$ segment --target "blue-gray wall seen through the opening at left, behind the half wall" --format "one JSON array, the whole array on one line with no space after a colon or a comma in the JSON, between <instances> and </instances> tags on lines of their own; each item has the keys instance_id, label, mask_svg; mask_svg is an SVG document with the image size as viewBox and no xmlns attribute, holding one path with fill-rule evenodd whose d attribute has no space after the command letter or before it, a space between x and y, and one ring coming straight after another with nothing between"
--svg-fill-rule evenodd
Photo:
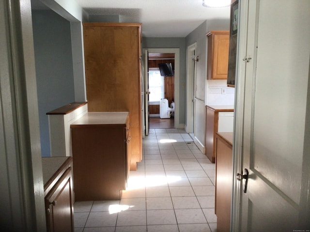
<instances>
[{"instance_id":1,"label":"blue-gray wall seen through the opening at left, behind the half wall","mask_svg":"<svg viewBox=\"0 0 310 232\"><path fill-rule=\"evenodd\" d=\"M32 11L41 153L50 156L46 113L75 101L70 22L51 10Z\"/></svg>"}]
</instances>

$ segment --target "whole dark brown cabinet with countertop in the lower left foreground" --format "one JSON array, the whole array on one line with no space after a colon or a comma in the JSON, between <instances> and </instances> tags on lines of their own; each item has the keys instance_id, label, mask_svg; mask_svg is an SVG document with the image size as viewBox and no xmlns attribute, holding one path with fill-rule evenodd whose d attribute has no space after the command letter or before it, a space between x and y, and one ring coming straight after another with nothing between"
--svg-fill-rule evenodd
<instances>
[{"instance_id":1,"label":"whole dark brown cabinet with countertop in the lower left foreground","mask_svg":"<svg viewBox=\"0 0 310 232\"><path fill-rule=\"evenodd\" d=\"M42 158L47 232L73 232L72 157Z\"/></svg>"}]
</instances>

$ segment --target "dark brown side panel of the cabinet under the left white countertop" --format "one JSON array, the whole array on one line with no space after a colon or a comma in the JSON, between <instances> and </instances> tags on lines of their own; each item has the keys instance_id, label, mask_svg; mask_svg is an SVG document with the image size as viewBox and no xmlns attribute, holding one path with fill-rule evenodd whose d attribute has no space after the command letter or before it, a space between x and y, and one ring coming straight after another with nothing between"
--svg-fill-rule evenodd
<instances>
[{"instance_id":1,"label":"dark brown side panel of the cabinet under the left white countertop","mask_svg":"<svg viewBox=\"0 0 310 232\"><path fill-rule=\"evenodd\" d=\"M72 128L76 201L121 199L126 181L124 130L99 126Z\"/></svg>"}]
</instances>

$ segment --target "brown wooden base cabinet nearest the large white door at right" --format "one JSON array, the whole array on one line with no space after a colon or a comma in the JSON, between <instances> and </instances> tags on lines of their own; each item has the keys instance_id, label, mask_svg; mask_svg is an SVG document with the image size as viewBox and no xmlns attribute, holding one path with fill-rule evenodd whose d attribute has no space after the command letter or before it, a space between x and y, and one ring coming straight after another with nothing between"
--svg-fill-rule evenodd
<instances>
[{"instance_id":1,"label":"brown wooden base cabinet nearest the large white door at right","mask_svg":"<svg viewBox=\"0 0 310 232\"><path fill-rule=\"evenodd\" d=\"M216 215L217 231L230 231L233 189L233 133L216 135Z\"/></svg>"}]
</instances>

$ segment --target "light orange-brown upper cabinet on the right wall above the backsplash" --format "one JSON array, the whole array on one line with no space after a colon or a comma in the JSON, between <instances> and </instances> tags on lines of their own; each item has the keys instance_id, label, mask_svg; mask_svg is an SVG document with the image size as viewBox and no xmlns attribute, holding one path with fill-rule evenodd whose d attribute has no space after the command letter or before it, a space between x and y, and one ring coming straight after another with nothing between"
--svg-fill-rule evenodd
<instances>
[{"instance_id":1,"label":"light orange-brown upper cabinet on the right wall above the backsplash","mask_svg":"<svg viewBox=\"0 0 310 232\"><path fill-rule=\"evenodd\" d=\"M229 30L213 30L207 33L207 37L207 79L227 79Z\"/></svg>"}]
</instances>

